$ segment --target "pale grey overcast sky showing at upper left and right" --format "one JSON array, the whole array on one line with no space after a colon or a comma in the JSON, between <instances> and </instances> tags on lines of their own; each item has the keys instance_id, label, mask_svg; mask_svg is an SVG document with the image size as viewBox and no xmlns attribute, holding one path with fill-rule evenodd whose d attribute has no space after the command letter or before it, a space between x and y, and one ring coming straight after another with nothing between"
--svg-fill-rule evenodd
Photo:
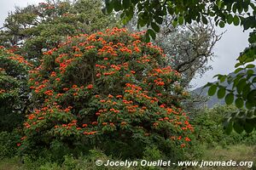
<instances>
[{"instance_id":1,"label":"pale grey overcast sky showing at upper left and right","mask_svg":"<svg viewBox=\"0 0 256 170\"><path fill-rule=\"evenodd\" d=\"M15 6L26 7L27 4L40 3L44 0L0 0L0 27L8 15L8 12L14 10ZM218 28L218 32L226 31L222 39L217 42L214 53L216 57L209 63L213 70L192 81L192 85L200 87L207 82L212 82L212 77L216 74L229 74L234 71L236 58L239 53L247 47L248 31L243 32L239 26L225 26L224 29Z\"/></svg>"}]
</instances>

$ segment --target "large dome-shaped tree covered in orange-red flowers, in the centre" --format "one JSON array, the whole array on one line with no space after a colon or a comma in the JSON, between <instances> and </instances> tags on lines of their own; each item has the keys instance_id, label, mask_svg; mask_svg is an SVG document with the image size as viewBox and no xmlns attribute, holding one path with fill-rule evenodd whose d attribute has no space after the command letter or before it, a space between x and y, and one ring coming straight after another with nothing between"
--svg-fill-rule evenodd
<instances>
[{"instance_id":1,"label":"large dome-shaped tree covered in orange-red flowers, in the centre","mask_svg":"<svg viewBox=\"0 0 256 170\"><path fill-rule=\"evenodd\" d=\"M29 144L54 139L101 147L102 141L163 139L180 147L193 131L179 100L180 75L143 32L113 28L69 37L44 53L30 74L33 111L24 123ZM68 142L67 142L68 141Z\"/></svg>"}]
</instances>

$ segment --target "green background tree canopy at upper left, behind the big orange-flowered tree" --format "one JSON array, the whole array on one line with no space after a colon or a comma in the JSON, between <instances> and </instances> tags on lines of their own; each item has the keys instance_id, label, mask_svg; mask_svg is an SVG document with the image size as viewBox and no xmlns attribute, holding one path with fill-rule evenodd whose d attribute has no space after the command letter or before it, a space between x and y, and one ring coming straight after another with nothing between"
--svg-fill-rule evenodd
<instances>
[{"instance_id":1,"label":"green background tree canopy at upper left, behind the big orange-flowered tree","mask_svg":"<svg viewBox=\"0 0 256 170\"><path fill-rule=\"evenodd\" d=\"M41 59L68 36L92 33L116 26L113 16L105 16L99 0L48 1L16 8L5 20L0 44L14 48L26 59Z\"/></svg>"}]
</instances>

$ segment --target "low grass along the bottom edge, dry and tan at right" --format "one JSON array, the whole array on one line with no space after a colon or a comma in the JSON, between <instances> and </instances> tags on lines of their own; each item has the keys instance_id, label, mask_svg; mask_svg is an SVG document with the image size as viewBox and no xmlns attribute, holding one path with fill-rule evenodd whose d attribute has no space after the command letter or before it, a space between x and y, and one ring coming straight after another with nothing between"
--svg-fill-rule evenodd
<instances>
[{"instance_id":1,"label":"low grass along the bottom edge, dry and tan at right","mask_svg":"<svg viewBox=\"0 0 256 170\"><path fill-rule=\"evenodd\" d=\"M202 160L204 160L204 161L230 161L230 160L233 160L236 162L253 161L254 165L250 169L256 170L256 145L248 146L248 145L241 144L241 145L227 146L225 148L223 148L221 146L217 146L216 148L205 150L204 154L202 156ZM200 160L195 160L195 161L200 161ZM77 162L79 162L79 161L77 161ZM32 162L29 164L32 164ZM84 166L82 166L82 167L84 167L86 169L96 169L96 167L92 163L90 163L90 165L88 165L84 161L84 162L79 162L79 164L83 164ZM35 167L40 167L40 166L32 166L32 165L22 164L18 157L3 159L0 161L0 170L69 169L69 168L66 168L65 164L62 165L62 167L60 167L54 163L46 163L46 164L42 165L40 168L35 168ZM81 165L79 167L81 167ZM194 167L194 168L189 167L188 169L198 169L198 168L199 167ZM103 169L103 168L101 168L101 169ZM114 169L120 169L120 168L114 168ZM139 168L132 168L132 169L139 169ZM154 169L154 168L152 168L152 169ZM202 169L202 170L204 170L204 169L206 169L206 170L212 170L212 169L243 170L243 169L249 169L249 168L248 167L201 167L200 169Z\"/></svg>"}]
</instances>

